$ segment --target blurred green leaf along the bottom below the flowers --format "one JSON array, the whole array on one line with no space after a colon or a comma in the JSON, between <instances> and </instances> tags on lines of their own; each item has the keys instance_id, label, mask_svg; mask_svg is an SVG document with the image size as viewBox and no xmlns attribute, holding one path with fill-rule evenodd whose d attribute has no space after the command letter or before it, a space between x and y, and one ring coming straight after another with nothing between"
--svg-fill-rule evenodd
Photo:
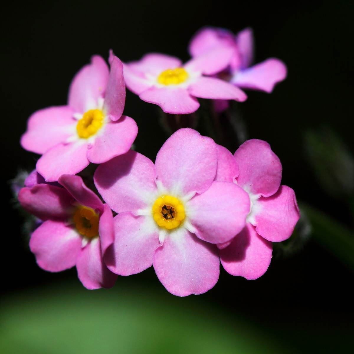
<instances>
[{"instance_id":1,"label":"blurred green leaf along the bottom below the flowers","mask_svg":"<svg viewBox=\"0 0 354 354\"><path fill-rule=\"evenodd\" d=\"M287 353L274 338L199 305L197 297L122 291L117 283L112 290L87 291L76 284L6 299L0 352Z\"/></svg>"}]
</instances>

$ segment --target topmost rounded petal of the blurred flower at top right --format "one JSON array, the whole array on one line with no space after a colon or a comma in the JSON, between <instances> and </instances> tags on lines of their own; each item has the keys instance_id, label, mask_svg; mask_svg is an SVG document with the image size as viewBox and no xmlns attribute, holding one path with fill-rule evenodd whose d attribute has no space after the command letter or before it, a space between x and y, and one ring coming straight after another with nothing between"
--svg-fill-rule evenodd
<instances>
[{"instance_id":1,"label":"topmost rounded petal of the blurred flower at top right","mask_svg":"<svg viewBox=\"0 0 354 354\"><path fill-rule=\"evenodd\" d=\"M204 27L193 36L189 43L190 56L196 57L215 48L234 45L233 37L228 30Z\"/></svg>"}]
</instances>

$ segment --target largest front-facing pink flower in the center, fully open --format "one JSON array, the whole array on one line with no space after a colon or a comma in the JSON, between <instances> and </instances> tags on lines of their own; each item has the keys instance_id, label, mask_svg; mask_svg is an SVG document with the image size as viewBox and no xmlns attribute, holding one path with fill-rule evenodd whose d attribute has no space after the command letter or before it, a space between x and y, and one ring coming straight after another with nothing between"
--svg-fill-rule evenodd
<instances>
[{"instance_id":1,"label":"largest front-facing pink flower in the center, fully open","mask_svg":"<svg viewBox=\"0 0 354 354\"><path fill-rule=\"evenodd\" d=\"M242 188L214 181L216 170L217 145L189 128L167 139L155 164L129 151L99 165L96 187L119 213L107 267L130 275L153 264L178 296L211 289L219 277L215 244L244 228L250 208Z\"/></svg>"}]
</instances>

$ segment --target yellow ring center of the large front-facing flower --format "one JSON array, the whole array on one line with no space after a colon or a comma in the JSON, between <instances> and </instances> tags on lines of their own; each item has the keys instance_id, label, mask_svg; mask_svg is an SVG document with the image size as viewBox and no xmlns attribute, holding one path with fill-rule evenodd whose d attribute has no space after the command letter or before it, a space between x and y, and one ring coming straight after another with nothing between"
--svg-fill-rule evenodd
<instances>
[{"instance_id":1,"label":"yellow ring center of the large front-facing flower","mask_svg":"<svg viewBox=\"0 0 354 354\"><path fill-rule=\"evenodd\" d=\"M162 195L153 205L153 217L160 227L175 229L185 218L182 202L171 195Z\"/></svg>"}]
</instances>

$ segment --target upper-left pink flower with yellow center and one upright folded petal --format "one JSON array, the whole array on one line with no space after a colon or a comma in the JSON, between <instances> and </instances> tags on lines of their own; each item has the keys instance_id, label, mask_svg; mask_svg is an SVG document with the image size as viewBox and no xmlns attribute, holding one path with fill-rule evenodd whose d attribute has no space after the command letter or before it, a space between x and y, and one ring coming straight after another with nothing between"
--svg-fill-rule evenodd
<instances>
[{"instance_id":1,"label":"upper-left pink flower with yellow center and one upright folded petal","mask_svg":"<svg viewBox=\"0 0 354 354\"><path fill-rule=\"evenodd\" d=\"M46 181L75 175L90 162L99 164L126 153L136 138L135 121L122 116L123 66L112 58L111 70L93 56L74 77L68 105L41 109L28 120L24 149L42 154L36 169Z\"/></svg>"}]
</instances>

